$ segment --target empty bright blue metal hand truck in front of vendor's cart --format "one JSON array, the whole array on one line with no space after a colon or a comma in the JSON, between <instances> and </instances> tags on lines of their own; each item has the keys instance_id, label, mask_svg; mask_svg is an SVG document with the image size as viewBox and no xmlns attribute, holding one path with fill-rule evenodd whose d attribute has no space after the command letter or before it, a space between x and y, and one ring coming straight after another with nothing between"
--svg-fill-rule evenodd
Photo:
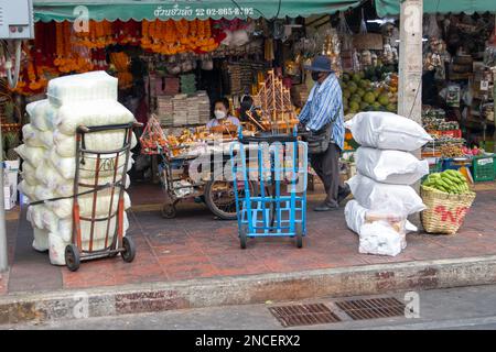
<instances>
[{"instance_id":1,"label":"empty bright blue metal hand truck in front of vendor's cart","mask_svg":"<svg viewBox=\"0 0 496 352\"><path fill-rule=\"evenodd\" d=\"M255 146L255 147L254 147ZM293 135L260 134L230 146L238 233L248 238L306 234L308 146ZM254 190L250 185L256 184Z\"/></svg>"}]
</instances>

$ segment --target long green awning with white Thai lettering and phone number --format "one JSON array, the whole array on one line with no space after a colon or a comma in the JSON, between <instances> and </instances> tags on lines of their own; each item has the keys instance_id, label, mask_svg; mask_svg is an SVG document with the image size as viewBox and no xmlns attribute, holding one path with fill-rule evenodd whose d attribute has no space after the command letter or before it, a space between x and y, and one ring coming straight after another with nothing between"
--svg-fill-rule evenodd
<instances>
[{"instance_id":1,"label":"long green awning with white Thai lettering and phone number","mask_svg":"<svg viewBox=\"0 0 496 352\"><path fill-rule=\"evenodd\" d=\"M34 0L35 21L74 21L86 7L90 20L205 20L295 18L334 13L360 0Z\"/></svg>"}]
</instances>

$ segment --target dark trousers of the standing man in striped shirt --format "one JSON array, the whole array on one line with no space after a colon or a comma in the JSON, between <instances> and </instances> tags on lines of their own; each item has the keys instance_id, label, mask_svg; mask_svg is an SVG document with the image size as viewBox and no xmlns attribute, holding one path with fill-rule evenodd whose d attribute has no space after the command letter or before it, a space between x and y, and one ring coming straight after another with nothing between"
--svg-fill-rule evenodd
<instances>
[{"instance_id":1,"label":"dark trousers of the standing man in striped shirt","mask_svg":"<svg viewBox=\"0 0 496 352\"><path fill-rule=\"evenodd\" d=\"M324 184L325 202L332 207L338 206L337 196L345 190L339 177L339 156L341 148L334 143L324 153L310 154L310 164Z\"/></svg>"}]
</instances>

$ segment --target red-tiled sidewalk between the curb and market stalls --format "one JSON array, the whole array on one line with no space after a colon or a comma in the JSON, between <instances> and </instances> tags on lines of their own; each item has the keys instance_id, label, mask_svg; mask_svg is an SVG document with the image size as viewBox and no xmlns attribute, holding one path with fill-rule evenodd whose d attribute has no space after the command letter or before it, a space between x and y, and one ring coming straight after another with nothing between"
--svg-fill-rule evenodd
<instances>
[{"instance_id":1,"label":"red-tiled sidewalk between the curb and market stalls","mask_svg":"<svg viewBox=\"0 0 496 352\"><path fill-rule=\"evenodd\" d=\"M131 189L133 208L129 212L128 234L134 239L138 248L137 257L131 264L123 263L119 257L100 260L82 263L80 270L76 273L71 273L66 267L52 266L47 253L32 250L31 228L25 217L21 215L19 231L15 231L17 221L10 220L8 232L12 264L10 273L0 278L0 304L2 298L8 300L9 297L15 298L26 293L95 288L103 288L100 290L103 293L106 287L118 292L118 287L126 285L151 287L153 283L175 285L177 282L184 283L182 287L186 287L187 282L184 280L188 279L198 283L197 279L211 278L226 283L229 277L256 280L260 275L268 274L279 275L274 277L299 275L304 278L305 273L309 273L309 277L312 276L310 274L312 271L352 275L357 271L365 272L369 267L373 268L373 265L379 265L374 266L380 268L374 275L384 279L385 277L380 276L382 274L386 278L387 275L395 275L393 271L382 273L395 263L405 264L397 267L408 270L414 267L414 263L428 261L449 260L443 262L445 264L457 263L459 260L463 263L465 258L466 263L477 263L474 258L489 258L490 255L496 255L495 184L481 185L477 189L479 190L474 207L457 235L409 234L408 248L403 253L396 257L386 257L358 253L358 238L347 229L343 211L330 213L309 211L309 237L301 250L295 248L291 239L257 239L249 240L248 249L242 251L239 249L236 221L214 220L204 206L195 204L180 205L176 219L162 219L159 211L162 202L160 186L138 186ZM311 195L309 209L319 199L319 195ZM422 265L419 264L419 267ZM435 271L425 268L421 275L425 278L417 279L412 286L427 286L423 288L439 286ZM490 275L496 282L494 273ZM460 277L466 280L466 277ZM302 288L298 283L295 285L296 296L298 289L309 289ZM395 285L386 282L384 285L385 289L395 289L395 285L399 285L399 282ZM139 286L133 286L133 289ZM291 297L291 293L285 296ZM276 298L278 297L270 299ZM263 301L269 298L251 296L244 299Z\"/></svg>"}]
</instances>

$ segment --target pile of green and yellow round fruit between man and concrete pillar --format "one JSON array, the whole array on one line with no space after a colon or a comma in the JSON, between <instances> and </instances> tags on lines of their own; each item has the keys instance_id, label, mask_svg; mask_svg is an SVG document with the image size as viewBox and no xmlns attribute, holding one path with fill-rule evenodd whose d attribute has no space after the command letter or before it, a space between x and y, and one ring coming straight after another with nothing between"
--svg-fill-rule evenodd
<instances>
[{"instance_id":1,"label":"pile of green and yellow round fruit between man and concrete pillar","mask_svg":"<svg viewBox=\"0 0 496 352\"><path fill-rule=\"evenodd\" d=\"M380 68L382 73L382 68ZM345 114L359 111L398 110L398 76L384 70L381 81L377 77L370 78L370 72L344 73L341 79L343 90L343 106Z\"/></svg>"}]
</instances>

